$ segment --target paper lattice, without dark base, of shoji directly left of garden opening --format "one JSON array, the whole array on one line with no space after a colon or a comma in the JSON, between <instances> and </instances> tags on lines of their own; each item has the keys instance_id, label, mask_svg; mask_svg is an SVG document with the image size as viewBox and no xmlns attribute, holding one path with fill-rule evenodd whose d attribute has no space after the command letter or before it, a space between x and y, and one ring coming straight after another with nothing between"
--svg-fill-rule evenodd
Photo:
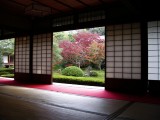
<instances>
[{"instance_id":1,"label":"paper lattice, without dark base, of shoji directly left of garden opening","mask_svg":"<svg viewBox=\"0 0 160 120\"><path fill-rule=\"evenodd\" d=\"M51 74L51 51L52 34L33 36L33 74Z\"/></svg>"}]
</instances>

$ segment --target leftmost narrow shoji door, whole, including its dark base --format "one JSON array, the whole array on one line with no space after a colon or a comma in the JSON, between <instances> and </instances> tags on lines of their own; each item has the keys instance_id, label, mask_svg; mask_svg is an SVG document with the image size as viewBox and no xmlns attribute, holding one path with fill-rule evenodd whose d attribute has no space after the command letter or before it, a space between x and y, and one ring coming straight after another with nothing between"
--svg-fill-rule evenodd
<instances>
[{"instance_id":1,"label":"leftmost narrow shoji door, whole, including its dark base","mask_svg":"<svg viewBox=\"0 0 160 120\"><path fill-rule=\"evenodd\" d=\"M15 38L15 80L26 81L30 79L30 37Z\"/></svg>"}]
</instances>

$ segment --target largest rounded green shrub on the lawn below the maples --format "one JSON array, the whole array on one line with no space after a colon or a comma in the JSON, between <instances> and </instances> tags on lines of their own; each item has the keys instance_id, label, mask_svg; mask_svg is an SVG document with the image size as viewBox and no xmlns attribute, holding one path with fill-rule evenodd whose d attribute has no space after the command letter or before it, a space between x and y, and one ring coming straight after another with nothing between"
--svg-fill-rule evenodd
<instances>
[{"instance_id":1,"label":"largest rounded green shrub on the lawn below the maples","mask_svg":"<svg viewBox=\"0 0 160 120\"><path fill-rule=\"evenodd\" d=\"M83 71L76 66L69 66L62 70L62 75L82 77Z\"/></svg>"}]
</instances>

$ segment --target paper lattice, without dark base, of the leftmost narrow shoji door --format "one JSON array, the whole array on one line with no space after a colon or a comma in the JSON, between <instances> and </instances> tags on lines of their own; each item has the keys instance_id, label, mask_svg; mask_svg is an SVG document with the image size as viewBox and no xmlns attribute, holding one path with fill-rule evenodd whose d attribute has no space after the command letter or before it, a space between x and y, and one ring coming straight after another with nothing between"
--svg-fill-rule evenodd
<instances>
[{"instance_id":1,"label":"paper lattice, without dark base, of the leftmost narrow shoji door","mask_svg":"<svg viewBox=\"0 0 160 120\"><path fill-rule=\"evenodd\" d=\"M29 73L30 38L15 38L15 72Z\"/></svg>"}]
</instances>

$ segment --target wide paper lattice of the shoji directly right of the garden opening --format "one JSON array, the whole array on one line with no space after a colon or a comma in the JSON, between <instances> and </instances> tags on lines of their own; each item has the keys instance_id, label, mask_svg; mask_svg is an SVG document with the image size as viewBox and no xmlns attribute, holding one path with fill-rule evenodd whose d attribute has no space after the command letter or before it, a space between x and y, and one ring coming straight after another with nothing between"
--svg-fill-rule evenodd
<instances>
[{"instance_id":1,"label":"wide paper lattice of the shoji directly right of the garden opening","mask_svg":"<svg viewBox=\"0 0 160 120\"><path fill-rule=\"evenodd\" d=\"M106 77L141 79L139 23L106 27Z\"/></svg>"}]
</instances>

